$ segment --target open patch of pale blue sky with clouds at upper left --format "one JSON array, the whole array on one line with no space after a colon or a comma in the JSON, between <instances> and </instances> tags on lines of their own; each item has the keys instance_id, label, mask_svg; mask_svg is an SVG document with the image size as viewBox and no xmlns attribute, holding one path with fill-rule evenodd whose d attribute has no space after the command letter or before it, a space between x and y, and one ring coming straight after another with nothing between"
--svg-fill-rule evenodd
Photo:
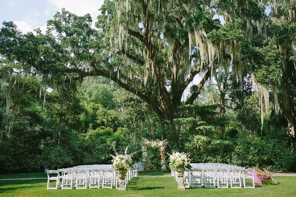
<instances>
[{"instance_id":1,"label":"open patch of pale blue sky with clouds at upper left","mask_svg":"<svg viewBox=\"0 0 296 197\"><path fill-rule=\"evenodd\" d=\"M104 0L0 0L0 21L13 21L22 33L40 28L44 33L46 21L62 8L78 16L91 14L93 27L98 9Z\"/></svg>"}]
</instances>

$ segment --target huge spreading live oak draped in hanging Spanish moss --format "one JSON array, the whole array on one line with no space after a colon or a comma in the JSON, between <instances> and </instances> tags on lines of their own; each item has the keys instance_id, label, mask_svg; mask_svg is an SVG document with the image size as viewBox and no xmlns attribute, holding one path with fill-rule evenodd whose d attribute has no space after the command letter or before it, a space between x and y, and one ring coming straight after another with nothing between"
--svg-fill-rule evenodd
<instances>
[{"instance_id":1,"label":"huge spreading live oak draped in hanging Spanish moss","mask_svg":"<svg viewBox=\"0 0 296 197\"><path fill-rule=\"evenodd\" d=\"M23 35L4 23L1 90L7 109L13 82L6 82L14 72L42 76L44 101L49 86L104 76L146 102L178 141L180 125L173 120L193 116L182 104L194 104L217 67L231 66L240 83L252 73L262 121L272 90L274 111L283 110L295 142L295 1L106 0L100 10L98 30L89 14L64 9L48 21L46 35ZM217 14L225 24L214 19ZM201 80L191 85L195 76ZM183 102L187 87L191 94Z\"/></svg>"}]
</instances>

